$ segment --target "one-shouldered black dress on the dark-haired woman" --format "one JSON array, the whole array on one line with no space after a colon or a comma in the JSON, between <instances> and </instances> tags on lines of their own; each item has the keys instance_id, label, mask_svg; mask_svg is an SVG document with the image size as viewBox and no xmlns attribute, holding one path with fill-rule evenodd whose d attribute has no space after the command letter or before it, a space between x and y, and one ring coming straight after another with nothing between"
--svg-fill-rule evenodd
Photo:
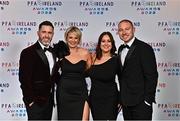
<instances>
[{"instance_id":1,"label":"one-shouldered black dress on the dark-haired woman","mask_svg":"<svg viewBox=\"0 0 180 121\"><path fill-rule=\"evenodd\" d=\"M113 56L106 62L93 65L89 70L91 90L89 103L94 120L116 120L118 115L118 89L115 82L118 60Z\"/></svg>"}]
</instances>

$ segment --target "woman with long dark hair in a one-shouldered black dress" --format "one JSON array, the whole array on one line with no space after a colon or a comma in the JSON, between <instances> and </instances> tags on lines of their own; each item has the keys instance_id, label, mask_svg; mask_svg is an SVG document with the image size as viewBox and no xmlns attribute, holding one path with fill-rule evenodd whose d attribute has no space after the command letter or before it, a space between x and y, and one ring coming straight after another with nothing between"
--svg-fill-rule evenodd
<instances>
[{"instance_id":1,"label":"woman with long dark hair in a one-shouldered black dress","mask_svg":"<svg viewBox=\"0 0 180 121\"><path fill-rule=\"evenodd\" d=\"M118 59L115 42L110 32L103 32L98 39L96 53L89 69L91 90L89 102L94 120L116 120L118 115Z\"/></svg>"}]
</instances>

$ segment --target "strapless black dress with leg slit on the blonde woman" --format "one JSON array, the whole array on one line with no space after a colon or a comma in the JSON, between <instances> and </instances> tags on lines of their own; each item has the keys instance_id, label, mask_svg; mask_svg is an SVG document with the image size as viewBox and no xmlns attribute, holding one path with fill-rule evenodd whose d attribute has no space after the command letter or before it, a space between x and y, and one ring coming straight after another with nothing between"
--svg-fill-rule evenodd
<instances>
[{"instance_id":1,"label":"strapless black dress with leg slit on the blonde woman","mask_svg":"<svg viewBox=\"0 0 180 121\"><path fill-rule=\"evenodd\" d=\"M75 64L61 60L61 78L57 85L58 120L81 120L85 101L88 99L84 71L86 62Z\"/></svg>"}]
</instances>

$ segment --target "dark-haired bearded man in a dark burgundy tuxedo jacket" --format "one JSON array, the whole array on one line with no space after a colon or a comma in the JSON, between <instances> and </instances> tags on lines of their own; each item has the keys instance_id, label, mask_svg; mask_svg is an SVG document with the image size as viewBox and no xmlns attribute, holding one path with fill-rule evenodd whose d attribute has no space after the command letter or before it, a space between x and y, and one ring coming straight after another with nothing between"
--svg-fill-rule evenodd
<instances>
[{"instance_id":1,"label":"dark-haired bearded man in a dark burgundy tuxedo jacket","mask_svg":"<svg viewBox=\"0 0 180 121\"><path fill-rule=\"evenodd\" d=\"M51 120L55 81L55 56L50 47L54 35L53 24L43 21L37 35L38 41L21 52L19 81L28 120Z\"/></svg>"}]
</instances>

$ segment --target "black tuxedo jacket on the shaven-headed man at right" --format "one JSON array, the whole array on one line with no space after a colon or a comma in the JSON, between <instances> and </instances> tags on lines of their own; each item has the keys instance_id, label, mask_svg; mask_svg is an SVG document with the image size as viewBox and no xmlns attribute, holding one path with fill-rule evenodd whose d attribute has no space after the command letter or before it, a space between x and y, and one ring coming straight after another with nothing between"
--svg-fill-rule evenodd
<instances>
[{"instance_id":1,"label":"black tuxedo jacket on the shaven-headed man at right","mask_svg":"<svg viewBox=\"0 0 180 121\"><path fill-rule=\"evenodd\" d=\"M121 48L118 54L121 54ZM119 62L120 103L134 106L142 101L150 104L155 102L158 72L152 47L135 38L125 58L124 66L120 58Z\"/></svg>"}]
</instances>

